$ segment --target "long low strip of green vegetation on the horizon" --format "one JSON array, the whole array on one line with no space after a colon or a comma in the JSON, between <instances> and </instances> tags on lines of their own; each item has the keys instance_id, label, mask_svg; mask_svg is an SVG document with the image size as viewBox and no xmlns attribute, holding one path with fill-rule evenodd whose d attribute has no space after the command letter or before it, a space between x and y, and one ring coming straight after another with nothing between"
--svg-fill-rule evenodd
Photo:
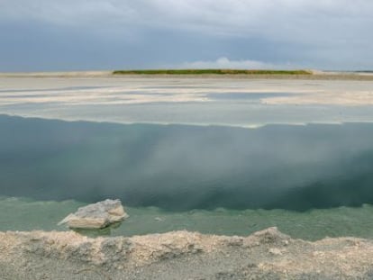
<instances>
[{"instance_id":1,"label":"long low strip of green vegetation on the horizon","mask_svg":"<svg viewBox=\"0 0 373 280\"><path fill-rule=\"evenodd\" d=\"M159 69L115 70L114 75L312 75L306 70L245 70L245 69Z\"/></svg>"}]
</instances>

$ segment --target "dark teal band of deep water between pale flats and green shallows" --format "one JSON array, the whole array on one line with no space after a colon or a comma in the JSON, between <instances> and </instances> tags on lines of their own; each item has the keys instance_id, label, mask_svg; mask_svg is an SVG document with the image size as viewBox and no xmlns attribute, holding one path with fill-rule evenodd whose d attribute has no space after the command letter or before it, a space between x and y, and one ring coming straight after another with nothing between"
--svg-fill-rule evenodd
<instances>
[{"instance_id":1,"label":"dark teal band of deep water between pale flats and green shallows","mask_svg":"<svg viewBox=\"0 0 373 280\"><path fill-rule=\"evenodd\" d=\"M258 129L0 116L0 195L163 211L373 203L373 124Z\"/></svg>"}]
</instances>

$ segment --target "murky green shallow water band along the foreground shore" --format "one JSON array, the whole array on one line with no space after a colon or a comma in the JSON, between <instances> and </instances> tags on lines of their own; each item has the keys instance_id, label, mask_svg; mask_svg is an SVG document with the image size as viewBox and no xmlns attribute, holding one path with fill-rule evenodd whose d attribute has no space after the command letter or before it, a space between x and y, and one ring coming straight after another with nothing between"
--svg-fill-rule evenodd
<instances>
[{"instance_id":1,"label":"murky green shallow water band along the foreground shore","mask_svg":"<svg viewBox=\"0 0 373 280\"><path fill-rule=\"evenodd\" d=\"M68 230L57 223L85 203L76 201L38 202L30 199L0 199L0 230ZM170 230L246 236L257 230L277 226L300 239L354 236L373 239L373 206L287 210L192 210L167 212L157 207L126 207L130 218L104 230L80 230L87 236L132 236Z\"/></svg>"}]
</instances>

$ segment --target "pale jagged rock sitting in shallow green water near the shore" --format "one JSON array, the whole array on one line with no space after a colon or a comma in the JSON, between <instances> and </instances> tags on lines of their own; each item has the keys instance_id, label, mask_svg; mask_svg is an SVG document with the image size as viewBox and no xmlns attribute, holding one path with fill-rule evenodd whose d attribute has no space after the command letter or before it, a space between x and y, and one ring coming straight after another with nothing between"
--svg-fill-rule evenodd
<instances>
[{"instance_id":1,"label":"pale jagged rock sitting in shallow green water near the shore","mask_svg":"<svg viewBox=\"0 0 373 280\"><path fill-rule=\"evenodd\" d=\"M66 223L72 229L102 229L127 217L120 200L106 199L78 208L77 212L59 221L59 225Z\"/></svg>"}]
</instances>

